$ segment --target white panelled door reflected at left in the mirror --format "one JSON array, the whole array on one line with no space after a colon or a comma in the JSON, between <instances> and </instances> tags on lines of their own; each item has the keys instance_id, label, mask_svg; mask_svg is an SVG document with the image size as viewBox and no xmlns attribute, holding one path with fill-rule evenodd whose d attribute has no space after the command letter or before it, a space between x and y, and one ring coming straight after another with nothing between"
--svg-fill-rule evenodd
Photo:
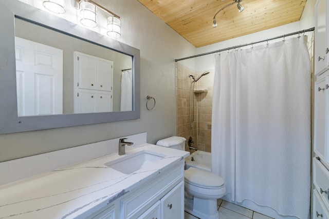
<instances>
[{"instance_id":1,"label":"white panelled door reflected at left in the mirror","mask_svg":"<svg viewBox=\"0 0 329 219\"><path fill-rule=\"evenodd\" d=\"M63 113L63 50L15 37L19 116Z\"/></svg>"}]
</instances>

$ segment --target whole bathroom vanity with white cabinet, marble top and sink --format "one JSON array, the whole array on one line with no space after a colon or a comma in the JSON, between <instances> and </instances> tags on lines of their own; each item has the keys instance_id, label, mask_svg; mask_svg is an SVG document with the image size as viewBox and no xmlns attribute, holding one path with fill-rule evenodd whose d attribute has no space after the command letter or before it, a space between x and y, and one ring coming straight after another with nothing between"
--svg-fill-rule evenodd
<instances>
[{"instance_id":1,"label":"whole bathroom vanity with white cabinet, marble top and sink","mask_svg":"<svg viewBox=\"0 0 329 219\"><path fill-rule=\"evenodd\" d=\"M3 185L0 218L184 218L188 154L143 144Z\"/></svg>"}]
</instances>

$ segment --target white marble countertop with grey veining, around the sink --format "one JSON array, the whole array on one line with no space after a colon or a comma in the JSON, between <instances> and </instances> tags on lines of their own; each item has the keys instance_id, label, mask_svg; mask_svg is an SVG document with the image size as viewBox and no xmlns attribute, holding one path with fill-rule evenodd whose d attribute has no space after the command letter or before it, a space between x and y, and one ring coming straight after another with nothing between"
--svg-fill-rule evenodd
<instances>
[{"instance_id":1,"label":"white marble countertop with grey veining, around the sink","mask_svg":"<svg viewBox=\"0 0 329 219\"><path fill-rule=\"evenodd\" d=\"M166 156L131 174L123 174L104 165L142 150ZM109 154L1 186L0 219L64 219L85 216L90 209L106 206L173 167L188 154L186 151L151 144L131 149L126 147L126 155Z\"/></svg>"}]
</instances>

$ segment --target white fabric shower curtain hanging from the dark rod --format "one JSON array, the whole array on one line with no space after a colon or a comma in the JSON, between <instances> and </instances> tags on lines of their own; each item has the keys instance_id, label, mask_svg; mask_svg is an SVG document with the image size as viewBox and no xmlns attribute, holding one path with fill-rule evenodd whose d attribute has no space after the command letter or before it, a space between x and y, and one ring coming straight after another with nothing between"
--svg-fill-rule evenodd
<instances>
[{"instance_id":1,"label":"white fabric shower curtain hanging from the dark rod","mask_svg":"<svg viewBox=\"0 0 329 219\"><path fill-rule=\"evenodd\" d=\"M216 55L212 171L228 199L308 218L310 59L307 36Z\"/></svg>"}]
</instances>

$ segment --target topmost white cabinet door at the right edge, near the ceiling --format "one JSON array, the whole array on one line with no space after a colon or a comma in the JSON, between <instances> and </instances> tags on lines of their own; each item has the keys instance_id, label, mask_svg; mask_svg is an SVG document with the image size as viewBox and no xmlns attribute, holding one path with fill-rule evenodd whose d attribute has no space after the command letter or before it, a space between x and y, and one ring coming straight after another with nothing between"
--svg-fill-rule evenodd
<instances>
[{"instance_id":1,"label":"topmost white cabinet door at the right edge, near the ceiling","mask_svg":"<svg viewBox=\"0 0 329 219\"><path fill-rule=\"evenodd\" d=\"M328 69L328 22L327 0L318 0L315 12L315 73L321 74Z\"/></svg>"}]
</instances>

